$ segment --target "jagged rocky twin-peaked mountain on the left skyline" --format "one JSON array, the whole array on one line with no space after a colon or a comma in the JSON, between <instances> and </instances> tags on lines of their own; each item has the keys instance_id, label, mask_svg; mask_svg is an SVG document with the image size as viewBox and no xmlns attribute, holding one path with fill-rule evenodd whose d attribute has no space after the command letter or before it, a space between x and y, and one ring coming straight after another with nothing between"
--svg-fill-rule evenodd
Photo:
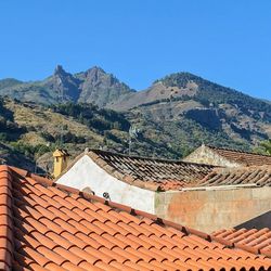
<instances>
[{"instance_id":1,"label":"jagged rocky twin-peaked mountain on the left skyline","mask_svg":"<svg viewBox=\"0 0 271 271\"><path fill-rule=\"evenodd\" d=\"M0 95L41 104L83 102L104 107L132 92L136 91L100 67L72 75L57 65L53 75L41 81L0 80Z\"/></svg>"}]
</instances>

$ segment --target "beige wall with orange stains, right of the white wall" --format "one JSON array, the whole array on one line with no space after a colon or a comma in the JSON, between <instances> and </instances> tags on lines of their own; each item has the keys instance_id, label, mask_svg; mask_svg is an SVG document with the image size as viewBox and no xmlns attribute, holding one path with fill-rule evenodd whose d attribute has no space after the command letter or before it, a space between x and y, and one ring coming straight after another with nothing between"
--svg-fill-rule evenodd
<instances>
[{"instance_id":1,"label":"beige wall with orange stains, right of the white wall","mask_svg":"<svg viewBox=\"0 0 271 271\"><path fill-rule=\"evenodd\" d=\"M158 217L207 233L233 228L270 210L271 188L268 186L166 192L155 197Z\"/></svg>"}]
</instances>

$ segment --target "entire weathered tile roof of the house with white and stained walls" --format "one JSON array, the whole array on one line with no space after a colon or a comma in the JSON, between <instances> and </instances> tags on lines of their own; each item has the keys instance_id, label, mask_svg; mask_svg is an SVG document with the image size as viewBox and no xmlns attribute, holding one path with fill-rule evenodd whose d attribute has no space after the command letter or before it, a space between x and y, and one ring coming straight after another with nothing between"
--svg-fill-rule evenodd
<instances>
[{"instance_id":1,"label":"entire weathered tile roof of the house with white and stained walls","mask_svg":"<svg viewBox=\"0 0 271 271\"><path fill-rule=\"evenodd\" d=\"M222 185L271 186L271 168L268 165L227 168L181 160L128 156L100 150L91 150L79 155L62 175L83 155L88 155L116 179L153 191Z\"/></svg>"}]
</instances>

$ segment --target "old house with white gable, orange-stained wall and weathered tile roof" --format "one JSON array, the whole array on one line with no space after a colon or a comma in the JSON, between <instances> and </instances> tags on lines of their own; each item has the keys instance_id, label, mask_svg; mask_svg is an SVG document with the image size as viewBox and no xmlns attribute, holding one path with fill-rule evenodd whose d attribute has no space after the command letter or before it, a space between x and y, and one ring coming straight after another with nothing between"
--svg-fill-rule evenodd
<instances>
[{"instance_id":1,"label":"old house with white gable, orange-stained wall and weathered tile roof","mask_svg":"<svg viewBox=\"0 0 271 271\"><path fill-rule=\"evenodd\" d=\"M242 224L271 209L269 167L231 169L92 150L78 156L56 182L206 232Z\"/></svg>"}]
</instances>

